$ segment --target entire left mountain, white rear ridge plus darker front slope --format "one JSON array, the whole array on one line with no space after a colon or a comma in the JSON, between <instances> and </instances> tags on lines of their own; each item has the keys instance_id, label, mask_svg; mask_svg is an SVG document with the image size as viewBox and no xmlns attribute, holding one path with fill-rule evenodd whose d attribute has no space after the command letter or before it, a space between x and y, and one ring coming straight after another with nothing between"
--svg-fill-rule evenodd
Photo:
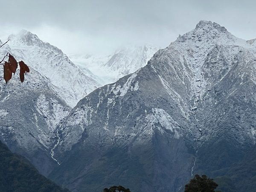
<instances>
[{"instance_id":1,"label":"entire left mountain, white rear ridge plus darker front slope","mask_svg":"<svg viewBox=\"0 0 256 192\"><path fill-rule=\"evenodd\" d=\"M47 175L58 164L54 150L59 142L59 124L69 114L70 106L99 87L101 79L25 30L9 36L0 49L0 58L7 52L17 61L25 61L30 73L21 84L17 70L6 85L3 68L0 70L0 140Z\"/></svg>"}]
</instances>

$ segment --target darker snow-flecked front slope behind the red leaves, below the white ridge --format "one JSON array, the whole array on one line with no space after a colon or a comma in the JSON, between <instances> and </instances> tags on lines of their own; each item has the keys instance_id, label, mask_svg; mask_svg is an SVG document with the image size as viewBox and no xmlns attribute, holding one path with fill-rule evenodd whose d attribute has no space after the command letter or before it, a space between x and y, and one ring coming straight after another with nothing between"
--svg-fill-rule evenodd
<instances>
[{"instance_id":1,"label":"darker snow-flecked front slope behind the red leaves, below the white ridge","mask_svg":"<svg viewBox=\"0 0 256 192\"><path fill-rule=\"evenodd\" d=\"M15 55L8 44L0 48L0 58ZM5 61L8 61L8 57ZM71 108L56 93L49 79L29 65L30 73L20 82L19 67L6 84L0 66L0 140L16 153L24 155L44 175L57 164L51 150L58 141L57 125Z\"/></svg>"}]
</instances>

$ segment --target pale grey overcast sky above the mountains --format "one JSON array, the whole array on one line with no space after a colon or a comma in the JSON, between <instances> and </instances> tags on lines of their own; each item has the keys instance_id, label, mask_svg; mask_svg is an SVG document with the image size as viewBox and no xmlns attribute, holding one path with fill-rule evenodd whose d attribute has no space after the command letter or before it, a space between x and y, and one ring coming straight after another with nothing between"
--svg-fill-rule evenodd
<instances>
[{"instance_id":1,"label":"pale grey overcast sky above the mountains","mask_svg":"<svg viewBox=\"0 0 256 192\"><path fill-rule=\"evenodd\" d=\"M108 54L128 44L166 47L199 20L219 23L239 38L256 38L255 0L0 0L0 4L2 40L26 29L67 54Z\"/></svg>"}]
</instances>

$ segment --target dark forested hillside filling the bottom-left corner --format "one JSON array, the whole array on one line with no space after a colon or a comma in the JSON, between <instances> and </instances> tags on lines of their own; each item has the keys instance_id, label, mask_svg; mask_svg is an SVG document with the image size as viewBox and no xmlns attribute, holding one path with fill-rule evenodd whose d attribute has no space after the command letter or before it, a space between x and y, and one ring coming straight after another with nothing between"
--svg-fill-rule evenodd
<instances>
[{"instance_id":1,"label":"dark forested hillside filling the bottom-left corner","mask_svg":"<svg viewBox=\"0 0 256 192\"><path fill-rule=\"evenodd\" d=\"M25 158L0 141L0 192L70 192L41 175Z\"/></svg>"}]
</instances>

